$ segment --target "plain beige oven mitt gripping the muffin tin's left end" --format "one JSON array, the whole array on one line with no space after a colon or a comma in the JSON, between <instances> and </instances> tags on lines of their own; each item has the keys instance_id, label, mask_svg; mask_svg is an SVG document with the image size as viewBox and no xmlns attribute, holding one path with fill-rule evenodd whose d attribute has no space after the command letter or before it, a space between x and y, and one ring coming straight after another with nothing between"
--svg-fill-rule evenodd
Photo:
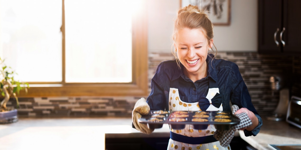
<instances>
[{"instance_id":1,"label":"plain beige oven mitt gripping the muffin tin's left end","mask_svg":"<svg viewBox=\"0 0 301 150\"><path fill-rule=\"evenodd\" d=\"M142 115L148 115L149 112L150 107L146 103L146 100L144 98L140 98L134 106L134 110L132 112L132 120L134 127L144 134L151 134L154 129L147 128L147 124L138 122L138 119L141 118Z\"/></svg>"}]
</instances>

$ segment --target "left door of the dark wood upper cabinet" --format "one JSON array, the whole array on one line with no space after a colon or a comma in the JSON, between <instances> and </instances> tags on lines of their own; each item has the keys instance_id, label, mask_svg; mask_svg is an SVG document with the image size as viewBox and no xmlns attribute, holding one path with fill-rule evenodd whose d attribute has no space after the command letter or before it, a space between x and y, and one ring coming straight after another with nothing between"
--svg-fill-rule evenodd
<instances>
[{"instance_id":1,"label":"left door of the dark wood upper cabinet","mask_svg":"<svg viewBox=\"0 0 301 150\"><path fill-rule=\"evenodd\" d=\"M281 42L279 34L282 29L282 0L259 0L258 1L258 52L280 53ZM277 29L279 31L277 31ZM274 35L276 34L276 42ZM276 44L278 42L278 45Z\"/></svg>"}]
</instances>

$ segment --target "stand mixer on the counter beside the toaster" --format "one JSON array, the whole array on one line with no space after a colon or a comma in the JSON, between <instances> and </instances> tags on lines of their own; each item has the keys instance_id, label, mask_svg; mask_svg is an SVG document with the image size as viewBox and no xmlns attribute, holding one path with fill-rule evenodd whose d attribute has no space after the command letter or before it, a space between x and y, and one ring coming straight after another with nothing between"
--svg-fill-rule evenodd
<instances>
[{"instance_id":1,"label":"stand mixer on the counter beside the toaster","mask_svg":"<svg viewBox=\"0 0 301 150\"><path fill-rule=\"evenodd\" d=\"M273 97L274 97L274 93L279 91L279 101L278 101L277 108L274 110L272 115L267 117L267 119L270 121L283 121L286 118L287 106L290 98L289 89L282 88L283 81L280 76L271 76L270 83L271 83Z\"/></svg>"}]
</instances>

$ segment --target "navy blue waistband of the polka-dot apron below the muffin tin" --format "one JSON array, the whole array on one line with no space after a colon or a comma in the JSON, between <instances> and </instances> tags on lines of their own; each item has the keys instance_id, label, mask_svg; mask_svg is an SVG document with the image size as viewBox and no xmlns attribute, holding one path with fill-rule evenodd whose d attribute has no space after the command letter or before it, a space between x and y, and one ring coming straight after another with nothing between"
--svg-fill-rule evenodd
<instances>
[{"instance_id":1,"label":"navy blue waistband of the polka-dot apron below the muffin tin","mask_svg":"<svg viewBox=\"0 0 301 150\"><path fill-rule=\"evenodd\" d=\"M206 144L216 142L217 140L213 137L213 135L204 136L204 137L186 137L181 134L176 134L170 131L170 138L172 140L187 143L187 144Z\"/></svg>"}]
</instances>

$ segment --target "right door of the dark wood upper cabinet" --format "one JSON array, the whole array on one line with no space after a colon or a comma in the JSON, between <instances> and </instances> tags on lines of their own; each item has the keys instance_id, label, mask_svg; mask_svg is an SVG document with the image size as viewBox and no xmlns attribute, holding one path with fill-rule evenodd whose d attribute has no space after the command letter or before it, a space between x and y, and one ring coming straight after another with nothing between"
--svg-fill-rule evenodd
<instances>
[{"instance_id":1,"label":"right door of the dark wood upper cabinet","mask_svg":"<svg viewBox=\"0 0 301 150\"><path fill-rule=\"evenodd\" d=\"M283 3L283 52L301 52L301 1L286 0Z\"/></svg>"}]
</instances>

